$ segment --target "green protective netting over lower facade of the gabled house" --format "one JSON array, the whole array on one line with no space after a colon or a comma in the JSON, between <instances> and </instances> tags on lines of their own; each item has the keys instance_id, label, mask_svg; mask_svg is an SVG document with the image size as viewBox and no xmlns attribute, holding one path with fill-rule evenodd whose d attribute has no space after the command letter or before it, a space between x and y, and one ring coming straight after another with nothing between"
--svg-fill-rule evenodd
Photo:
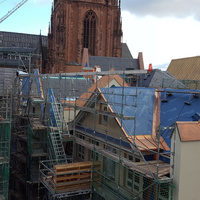
<instances>
[{"instance_id":1,"label":"green protective netting over lower facade of the gabled house","mask_svg":"<svg viewBox=\"0 0 200 200\"><path fill-rule=\"evenodd\" d=\"M93 152L93 187L95 199L106 200L170 200L170 179L151 179L119 162Z\"/></svg>"}]
</instances>

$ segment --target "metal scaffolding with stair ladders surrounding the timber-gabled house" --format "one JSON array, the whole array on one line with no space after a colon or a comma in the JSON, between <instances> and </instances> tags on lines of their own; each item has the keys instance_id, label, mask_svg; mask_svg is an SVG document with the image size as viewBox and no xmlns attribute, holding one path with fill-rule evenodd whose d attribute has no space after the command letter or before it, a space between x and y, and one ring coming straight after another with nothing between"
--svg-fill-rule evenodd
<instances>
[{"instance_id":1,"label":"metal scaffolding with stair ladders surrounding the timber-gabled house","mask_svg":"<svg viewBox=\"0 0 200 200\"><path fill-rule=\"evenodd\" d=\"M153 158L169 159L171 154L163 151L159 126L156 138L146 139L154 148L138 143L140 92L137 86L127 89L126 81L137 82L142 73L148 72L20 74L13 85L13 194L21 199L36 198L33 194L38 199L172 199L169 173L173 164ZM90 184L77 189L87 174L77 172L75 163L85 161L92 164L86 170ZM66 168L58 175L56 166L63 164ZM20 174L16 167L25 172L18 186L14 183ZM72 182L73 189L66 190ZM20 194L23 188L27 197Z\"/></svg>"}]
</instances>

